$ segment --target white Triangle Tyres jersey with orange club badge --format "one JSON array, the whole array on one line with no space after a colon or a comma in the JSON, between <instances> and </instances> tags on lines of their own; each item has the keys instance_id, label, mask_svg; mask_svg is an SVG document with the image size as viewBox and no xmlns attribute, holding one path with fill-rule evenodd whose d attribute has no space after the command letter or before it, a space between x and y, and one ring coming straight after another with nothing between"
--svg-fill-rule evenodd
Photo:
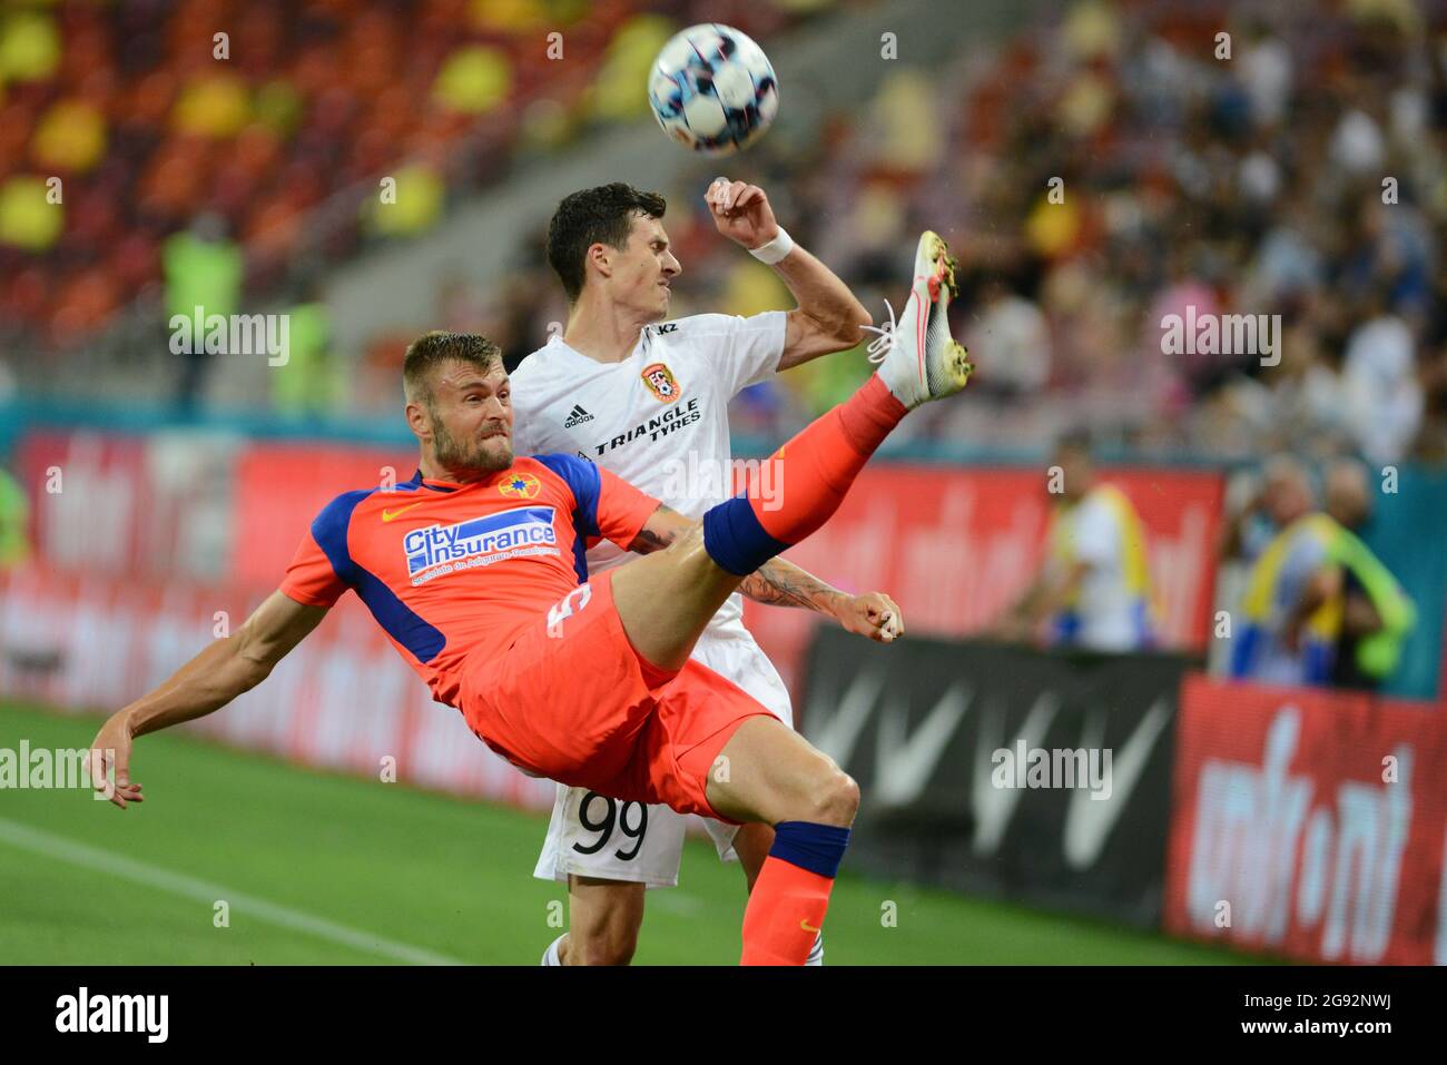
<instances>
[{"instance_id":1,"label":"white Triangle Tyres jersey with orange club badge","mask_svg":"<svg viewBox=\"0 0 1447 1065\"><path fill-rule=\"evenodd\" d=\"M786 323L784 311L664 321L645 327L622 362L596 362L553 337L512 373L512 450L576 454L702 518L734 493L728 404L777 372ZM587 572L628 556L603 541L587 553ZM742 616L735 593L709 628L739 628Z\"/></svg>"}]
</instances>

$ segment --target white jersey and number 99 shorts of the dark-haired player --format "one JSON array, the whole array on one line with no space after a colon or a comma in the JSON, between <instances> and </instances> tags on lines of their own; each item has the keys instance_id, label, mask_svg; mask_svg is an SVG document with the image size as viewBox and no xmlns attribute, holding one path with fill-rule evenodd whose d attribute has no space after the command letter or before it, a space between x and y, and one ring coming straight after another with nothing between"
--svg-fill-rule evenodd
<instances>
[{"instance_id":1,"label":"white jersey and number 99 shorts of the dark-haired player","mask_svg":"<svg viewBox=\"0 0 1447 1065\"><path fill-rule=\"evenodd\" d=\"M751 318L699 314L642 330L622 362L602 363L554 337L512 375L518 454L576 454L690 518L732 495L728 404L768 379L784 350L784 311ZM587 570L628 553L603 543ZM693 658L734 682L784 724L789 690L744 628L738 595L713 615ZM734 860L735 825L703 819L719 857ZM684 818L667 806L616 803L559 784L534 875L570 874L669 887L679 883Z\"/></svg>"}]
</instances>

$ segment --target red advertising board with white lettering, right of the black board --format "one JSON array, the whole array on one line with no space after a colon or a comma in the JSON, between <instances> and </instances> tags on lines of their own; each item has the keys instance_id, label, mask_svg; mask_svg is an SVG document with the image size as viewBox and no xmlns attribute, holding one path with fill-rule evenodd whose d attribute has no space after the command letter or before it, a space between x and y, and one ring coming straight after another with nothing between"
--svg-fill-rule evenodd
<instances>
[{"instance_id":1,"label":"red advertising board with white lettering, right of the black board","mask_svg":"<svg viewBox=\"0 0 1447 1065\"><path fill-rule=\"evenodd\" d=\"M1447 713L1189 676L1165 926L1308 961L1447 964Z\"/></svg>"}]
</instances>

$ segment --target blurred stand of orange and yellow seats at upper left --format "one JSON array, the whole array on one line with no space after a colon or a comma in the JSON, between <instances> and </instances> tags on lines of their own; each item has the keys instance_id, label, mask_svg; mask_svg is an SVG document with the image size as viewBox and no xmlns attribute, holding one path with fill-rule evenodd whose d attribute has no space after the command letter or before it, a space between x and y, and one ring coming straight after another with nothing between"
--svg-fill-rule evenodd
<instances>
[{"instance_id":1,"label":"blurred stand of orange and yellow seats at upper left","mask_svg":"<svg viewBox=\"0 0 1447 1065\"><path fill-rule=\"evenodd\" d=\"M78 344L198 265L221 275L224 314L243 294L294 279L300 253L318 269L369 239L425 232L447 197L489 185L514 152L635 116L631 75L687 7L126 0L6 10L4 339ZM787 6L744 7L710 4L761 35L789 20ZM551 30L566 32L567 62L541 61ZM339 197L362 182L375 201L382 172L395 175L404 210L359 211L362 197ZM59 204L46 198L54 175ZM187 243L203 218L223 243L226 255L211 256L220 265Z\"/></svg>"}]
</instances>

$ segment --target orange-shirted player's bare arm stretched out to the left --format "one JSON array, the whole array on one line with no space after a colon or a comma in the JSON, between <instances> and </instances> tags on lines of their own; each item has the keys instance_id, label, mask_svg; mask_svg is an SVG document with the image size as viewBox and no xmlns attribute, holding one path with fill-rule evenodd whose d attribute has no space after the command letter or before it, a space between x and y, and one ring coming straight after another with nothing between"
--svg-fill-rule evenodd
<instances>
[{"instance_id":1,"label":"orange-shirted player's bare arm stretched out to the left","mask_svg":"<svg viewBox=\"0 0 1447 1065\"><path fill-rule=\"evenodd\" d=\"M126 809L127 802L139 803L140 784L130 780L132 741L203 718L256 687L326 614L326 606L308 606L272 592L232 635L213 642L150 695L113 713L91 742L90 773L96 790L106 792L120 809ZM107 783L110 767L116 770L114 789Z\"/></svg>"}]
</instances>

